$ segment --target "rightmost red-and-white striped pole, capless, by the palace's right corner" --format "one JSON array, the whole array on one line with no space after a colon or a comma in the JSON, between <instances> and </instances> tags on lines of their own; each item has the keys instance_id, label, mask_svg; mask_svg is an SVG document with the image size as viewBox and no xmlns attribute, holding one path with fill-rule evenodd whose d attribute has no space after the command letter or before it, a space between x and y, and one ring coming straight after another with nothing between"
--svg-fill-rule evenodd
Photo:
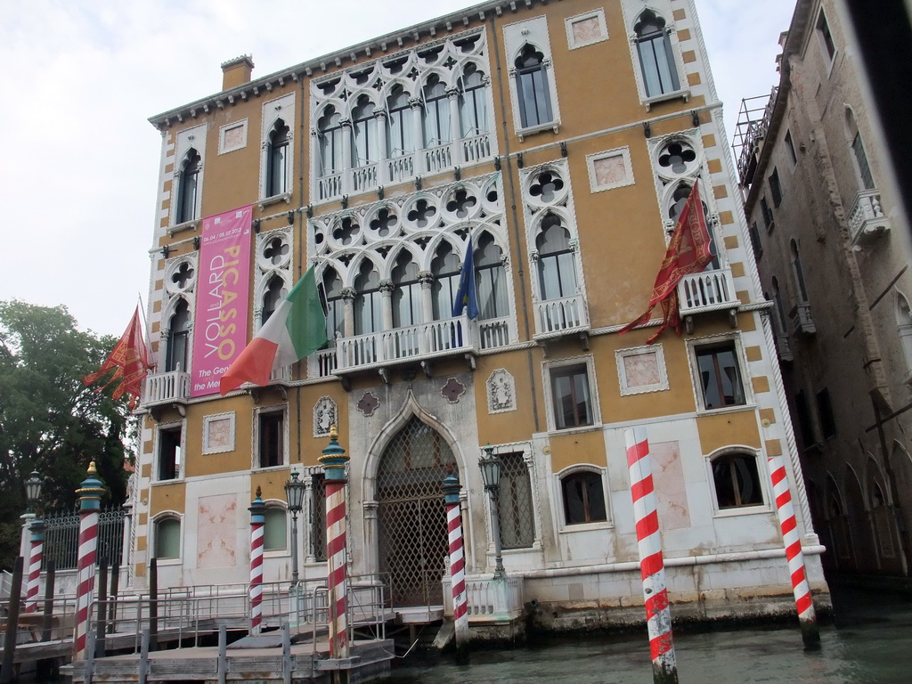
<instances>
[{"instance_id":1,"label":"rightmost red-and-white striped pole, capless, by the palace's right corner","mask_svg":"<svg viewBox=\"0 0 912 684\"><path fill-rule=\"evenodd\" d=\"M816 648L820 645L820 629L817 627L817 616L814 613L811 586L807 583L804 554L792 506L792 492L789 491L789 481L785 475L785 463L782 461L782 456L771 456L766 462L772 478L772 495L776 499L779 526L782 528L785 558L789 564L789 575L792 576L792 592L795 597L795 607L798 609L801 636L805 647Z\"/></svg>"}]
</instances>

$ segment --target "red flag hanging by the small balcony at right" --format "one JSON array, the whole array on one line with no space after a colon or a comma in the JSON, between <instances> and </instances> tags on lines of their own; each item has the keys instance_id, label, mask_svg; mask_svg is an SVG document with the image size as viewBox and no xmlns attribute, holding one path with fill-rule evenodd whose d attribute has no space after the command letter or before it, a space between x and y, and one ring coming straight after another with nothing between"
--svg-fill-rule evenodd
<instances>
[{"instance_id":1,"label":"red flag hanging by the small balcony at right","mask_svg":"<svg viewBox=\"0 0 912 684\"><path fill-rule=\"evenodd\" d=\"M674 327L677 333L681 334L678 284L685 275L700 273L712 261L710 229L706 225L706 216L703 213L697 185L697 183L693 184L693 190L690 191L674 232L671 233L665 258L658 267L656 284L652 286L649 306L637 320L621 328L621 335L646 323L649 320L649 314L657 304L662 305L662 325L658 327L655 335L646 340L646 343L651 345L669 326Z\"/></svg>"}]
</instances>

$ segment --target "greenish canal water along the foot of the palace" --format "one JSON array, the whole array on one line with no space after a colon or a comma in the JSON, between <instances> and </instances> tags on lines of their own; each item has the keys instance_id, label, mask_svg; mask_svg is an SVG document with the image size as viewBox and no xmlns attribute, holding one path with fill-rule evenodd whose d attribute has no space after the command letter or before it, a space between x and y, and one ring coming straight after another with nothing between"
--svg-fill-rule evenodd
<instances>
[{"instance_id":1,"label":"greenish canal water along the foot of the palace","mask_svg":"<svg viewBox=\"0 0 912 684\"><path fill-rule=\"evenodd\" d=\"M912 596L834 591L821 648L805 651L794 626L675 633L680 684L909 684ZM673 610L673 608L672 608ZM512 650L476 650L468 665L397 658L396 684L652 684L647 637L549 638Z\"/></svg>"}]
</instances>

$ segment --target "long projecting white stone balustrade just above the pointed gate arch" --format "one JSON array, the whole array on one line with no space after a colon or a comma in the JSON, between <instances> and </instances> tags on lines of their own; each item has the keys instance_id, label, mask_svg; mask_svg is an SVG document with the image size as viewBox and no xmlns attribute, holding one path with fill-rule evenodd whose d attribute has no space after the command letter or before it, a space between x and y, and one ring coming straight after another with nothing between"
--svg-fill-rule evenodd
<instances>
[{"instance_id":1,"label":"long projecting white stone balustrade just above the pointed gate arch","mask_svg":"<svg viewBox=\"0 0 912 684\"><path fill-rule=\"evenodd\" d=\"M476 336L477 324L466 316L459 316L356 337L342 337L336 341L336 372L475 352Z\"/></svg>"}]
</instances>

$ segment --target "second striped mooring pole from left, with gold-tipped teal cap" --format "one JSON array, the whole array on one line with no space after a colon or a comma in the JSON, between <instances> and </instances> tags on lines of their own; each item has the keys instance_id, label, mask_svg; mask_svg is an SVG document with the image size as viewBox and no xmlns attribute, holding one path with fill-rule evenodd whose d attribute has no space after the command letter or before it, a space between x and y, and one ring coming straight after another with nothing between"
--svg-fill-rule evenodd
<instances>
[{"instance_id":1,"label":"second striped mooring pole from left, with gold-tipped teal cap","mask_svg":"<svg viewBox=\"0 0 912 684\"><path fill-rule=\"evenodd\" d=\"M98 513L105 485L98 479L95 461L88 464L88 477L76 491L79 495L79 551L76 594L76 630L73 636L73 659L86 658L89 608L95 592L95 551L98 548Z\"/></svg>"}]
</instances>

